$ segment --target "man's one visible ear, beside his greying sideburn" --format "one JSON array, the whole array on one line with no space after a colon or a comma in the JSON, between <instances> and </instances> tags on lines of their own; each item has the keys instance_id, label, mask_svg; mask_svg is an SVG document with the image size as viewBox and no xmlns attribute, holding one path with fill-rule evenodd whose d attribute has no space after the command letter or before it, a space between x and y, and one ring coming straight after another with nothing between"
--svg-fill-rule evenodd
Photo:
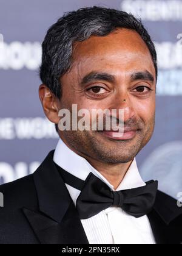
<instances>
[{"instance_id":1,"label":"man's one visible ear, beside his greying sideburn","mask_svg":"<svg viewBox=\"0 0 182 256\"><path fill-rule=\"evenodd\" d=\"M50 89L42 84L39 86L39 98L45 113L45 116L51 121L52 123L58 124L59 123L59 99L56 98L55 94L50 91Z\"/></svg>"}]
</instances>

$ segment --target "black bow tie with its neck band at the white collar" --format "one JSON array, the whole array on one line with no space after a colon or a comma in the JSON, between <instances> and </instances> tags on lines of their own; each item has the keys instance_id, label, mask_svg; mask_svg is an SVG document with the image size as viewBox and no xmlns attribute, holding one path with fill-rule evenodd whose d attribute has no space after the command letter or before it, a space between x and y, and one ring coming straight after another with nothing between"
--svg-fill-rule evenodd
<instances>
[{"instance_id":1,"label":"black bow tie with its neck band at the white collar","mask_svg":"<svg viewBox=\"0 0 182 256\"><path fill-rule=\"evenodd\" d=\"M157 195L158 182L150 180L146 186L130 190L111 191L98 177L90 172L86 181L73 176L60 168L65 183L77 190L81 190L76 201L80 219L88 219L110 206L121 207L124 212L135 218L151 212Z\"/></svg>"}]
</instances>

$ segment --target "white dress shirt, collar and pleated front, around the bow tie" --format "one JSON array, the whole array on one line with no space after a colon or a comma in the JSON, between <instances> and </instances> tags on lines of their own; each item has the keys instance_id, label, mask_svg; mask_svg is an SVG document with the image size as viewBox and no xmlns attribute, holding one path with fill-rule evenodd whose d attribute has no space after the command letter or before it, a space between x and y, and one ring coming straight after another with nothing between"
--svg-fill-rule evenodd
<instances>
[{"instance_id":1,"label":"white dress shirt, collar and pleated front, around the bow tie","mask_svg":"<svg viewBox=\"0 0 182 256\"><path fill-rule=\"evenodd\" d=\"M53 161L81 180L86 180L92 172L114 191L113 186L85 158L69 149L61 139L56 146ZM145 185L134 158L116 191ZM81 191L67 184L66 187L76 205L76 199ZM109 207L89 219L81 219L81 222L90 244L155 244L147 216L135 218L124 212L121 207Z\"/></svg>"}]
</instances>

